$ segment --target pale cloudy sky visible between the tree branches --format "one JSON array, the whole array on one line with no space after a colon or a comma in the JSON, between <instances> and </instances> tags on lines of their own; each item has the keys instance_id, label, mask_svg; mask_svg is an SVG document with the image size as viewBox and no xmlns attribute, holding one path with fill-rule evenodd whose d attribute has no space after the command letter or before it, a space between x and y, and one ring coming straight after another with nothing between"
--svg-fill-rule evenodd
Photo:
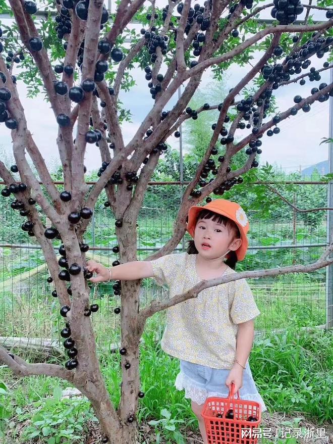
<instances>
[{"instance_id":1,"label":"pale cloudy sky visible between the tree branches","mask_svg":"<svg viewBox=\"0 0 333 444\"><path fill-rule=\"evenodd\" d=\"M157 0L158 6L164 6L165 3L165 0ZM114 2L111 6L113 11L115 11ZM321 13L315 15L314 18L322 18L320 14ZM302 16L299 16L299 18L302 18ZM263 15L263 18L267 17L269 17L269 12ZM9 22L10 20L6 20L6 24L9 24ZM141 28L141 25L135 25L134 27ZM252 63L255 63L258 57L259 54L255 54L255 59ZM314 56L311 58L311 66L317 69L322 68L324 60L324 58L317 59ZM165 70L166 67L162 66L160 72L164 74ZM235 86L248 70L249 66L239 67L238 65L234 65L230 68L224 76L226 87L229 89ZM134 69L131 71L131 74L136 81L136 86L131 89L130 92L126 93L122 91L120 94L120 100L123 102L123 106L126 109L130 109L132 113L132 121L124 122L122 126L125 143L129 142L134 136L141 121L153 104L144 73L140 69ZM210 70L207 70L202 76L199 88L204 90L211 81L212 73ZM291 84L280 87L274 91L278 111L282 112L290 108L293 104L293 97L296 94L300 94L303 97L307 96L310 94L311 88L318 86L321 82L329 83L329 70L321 73L319 82L309 82L307 80L304 86ZM26 86L23 82L18 82L17 87L26 112L28 128L33 134L46 165L49 168L53 168L55 164L60 163L57 144L55 142L58 125L55 122L54 114L49 104L43 101L41 95L29 99L26 97ZM183 90L184 86L181 87L181 91ZM178 93L176 95L178 95ZM240 98L242 97L237 96L236 100L240 100ZM333 97L331 97L330 100L333 100ZM175 101L176 96L172 98L165 109L170 110L175 104ZM214 119L214 121L216 120ZM200 122L200 115L197 122ZM263 135L261 139L262 154L260 156L260 164L265 164L266 162L275 164L278 168L290 173L328 159L329 145L319 144L323 137L329 137L329 101L324 103L315 102L311 105L311 111L309 113L300 111L296 116L281 122L278 126L281 129L280 134L274 135L273 137ZM236 137L237 134L239 134L239 137L243 137L247 133L246 130L243 130L236 133ZM168 143L170 143L173 148L179 149L179 139L176 139L174 136L169 137ZM14 160L10 130L8 130L4 124L0 125L0 146L5 149L6 160L9 162ZM186 144L183 152L186 152ZM88 171L98 169L101 165L98 147L94 144L87 144L85 165Z\"/></svg>"}]
</instances>

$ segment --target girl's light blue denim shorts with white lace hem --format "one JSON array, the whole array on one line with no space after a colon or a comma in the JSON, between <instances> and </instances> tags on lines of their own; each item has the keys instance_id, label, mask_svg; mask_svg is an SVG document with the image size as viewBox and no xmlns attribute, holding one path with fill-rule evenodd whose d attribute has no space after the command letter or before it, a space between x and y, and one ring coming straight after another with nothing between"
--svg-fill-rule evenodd
<instances>
[{"instance_id":1,"label":"girl's light blue denim shorts with white lace hem","mask_svg":"<svg viewBox=\"0 0 333 444\"><path fill-rule=\"evenodd\" d=\"M199 405L204 404L210 397L228 398L229 387L226 385L226 379L229 372L228 369L210 368L180 360L180 372L176 377L175 387L178 390L185 389L185 398L190 398ZM253 380L248 362L243 371L243 385L239 389L239 395L241 399L261 404L261 412L267 410Z\"/></svg>"}]
</instances>

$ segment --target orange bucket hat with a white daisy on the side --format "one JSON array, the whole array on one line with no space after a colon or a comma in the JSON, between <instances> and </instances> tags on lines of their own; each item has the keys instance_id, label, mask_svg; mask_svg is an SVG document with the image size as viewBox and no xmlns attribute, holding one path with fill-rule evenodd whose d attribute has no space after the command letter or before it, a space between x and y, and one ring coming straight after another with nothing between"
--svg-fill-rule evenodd
<instances>
[{"instance_id":1,"label":"orange bucket hat with a white daisy on the side","mask_svg":"<svg viewBox=\"0 0 333 444\"><path fill-rule=\"evenodd\" d=\"M210 210L214 213L221 214L233 220L238 226L241 233L242 244L236 250L237 259L239 261L243 260L246 255L246 250L249 246L249 241L247 238L247 232L249 231L250 224L248 218L245 214L243 208L236 202L227 201L226 199L215 199L209 204L199 207L194 205L189 209L188 222L186 225L186 230L194 238L194 230L198 219L198 214L201 210Z\"/></svg>"}]
</instances>

